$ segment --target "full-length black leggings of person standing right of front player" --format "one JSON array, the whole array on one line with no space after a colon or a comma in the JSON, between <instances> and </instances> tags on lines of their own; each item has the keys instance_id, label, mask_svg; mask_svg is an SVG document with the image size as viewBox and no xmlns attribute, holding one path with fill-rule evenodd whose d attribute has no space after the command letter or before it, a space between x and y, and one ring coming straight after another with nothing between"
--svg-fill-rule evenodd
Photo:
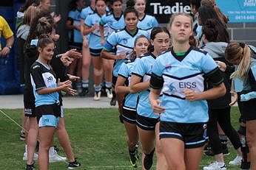
<instances>
[{"instance_id":1,"label":"full-length black leggings of person standing right of front player","mask_svg":"<svg viewBox=\"0 0 256 170\"><path fill-rule=\"evenodd\" d=\"M217 122L220 124L221 129L225 132L234 148L238 149L240 147L240 138L238 132L235 131L230 122L230 107L223 109L209 109L207 133L209 135L209 144L212 145L213 153L215 155L222 153Z\"/></svg>"}]
</instances>

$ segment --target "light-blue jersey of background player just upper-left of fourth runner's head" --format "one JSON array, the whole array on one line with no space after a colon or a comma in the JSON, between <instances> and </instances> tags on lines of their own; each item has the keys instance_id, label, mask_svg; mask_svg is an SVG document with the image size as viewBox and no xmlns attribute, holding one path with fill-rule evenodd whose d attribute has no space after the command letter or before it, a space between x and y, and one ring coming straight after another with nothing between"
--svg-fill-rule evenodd
<instances>
[{"instance_id":1,"label":"light-blue jersey of background player just upper-left of fourth runner's head","mask_svg":"<svg viewBox=\"0 0 256 170\"><path fill-rule=\"evenodd\" d=\"M107 13L101 17L101 26L107 24L109 35L116 30L124 29L124 15L122 14L119 18L116 18L113 13Z\"/></svg>"}]
</instances>

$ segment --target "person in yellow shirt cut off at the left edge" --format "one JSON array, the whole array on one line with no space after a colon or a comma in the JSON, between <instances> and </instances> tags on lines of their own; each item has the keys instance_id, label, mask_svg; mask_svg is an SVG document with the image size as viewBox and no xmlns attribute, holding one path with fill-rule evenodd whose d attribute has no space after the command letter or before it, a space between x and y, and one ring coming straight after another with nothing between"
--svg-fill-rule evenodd
<instances>
[{"instance_id":1,"label":"person in yellow shirt cut off at the left edge","mask_svg":"<svg viewBox=\"0 0 256 170\"><path fill-rule=\"evenodd\" d=\"M10 50L13 47L14 37L13 31L10 29L10 26L7 24L7 21L0 15L0 38L4 36L6 39L6 45L4 48L1 48L1 40L0 40L0 59L1 64L7 63L7 56L10 54Z\"/></svg>"}]
</instances>

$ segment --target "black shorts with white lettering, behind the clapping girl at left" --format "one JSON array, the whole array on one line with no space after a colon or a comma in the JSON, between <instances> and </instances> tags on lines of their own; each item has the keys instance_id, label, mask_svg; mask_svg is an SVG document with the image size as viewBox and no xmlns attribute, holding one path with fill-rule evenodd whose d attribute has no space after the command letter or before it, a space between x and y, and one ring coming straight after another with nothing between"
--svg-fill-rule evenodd
<instances>
[{"instance_id":1,"label":"black shorts with white lettering, behind the clapping girl at left","mask_svg":"<svg viewBox=\"0 0 256 170\"><path fill-rule=\"evenodd\" d=\"M35 96L33 91L24 88L23 94L23 102L24 102L24 115L27 117L36 117L35 113Z\"/></svg>"}]
</instances>

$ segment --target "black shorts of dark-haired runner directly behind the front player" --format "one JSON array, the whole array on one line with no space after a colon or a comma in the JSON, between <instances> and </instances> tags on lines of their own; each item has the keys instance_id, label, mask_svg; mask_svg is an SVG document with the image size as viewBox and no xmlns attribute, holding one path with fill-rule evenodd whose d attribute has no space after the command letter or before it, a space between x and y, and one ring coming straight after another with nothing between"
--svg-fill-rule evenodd
<instances>
[{"instance_id":1,"label":"black shorts of dark-haired runner directly behind the front player","mask_svg":"<svg viewBox=\"0 0 256 170\"><path fill-rule=\"evenodd\" d=\"M142 130L155 130L155 124L157 124L158 121L159 118L148 118L138 114L136 116L136 124Z\"/></svg>"}]
</instances>

